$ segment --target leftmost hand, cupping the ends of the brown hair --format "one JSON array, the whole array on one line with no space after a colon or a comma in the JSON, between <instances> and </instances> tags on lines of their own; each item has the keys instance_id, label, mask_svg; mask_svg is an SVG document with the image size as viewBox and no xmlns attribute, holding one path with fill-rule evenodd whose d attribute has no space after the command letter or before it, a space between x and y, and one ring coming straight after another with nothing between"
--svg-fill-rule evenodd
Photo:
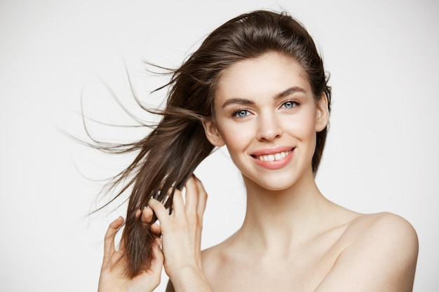
<instances>
[{"instance_id":1,"label":"leftmost hand, cupping the ends of the brown hair","mask_svg":"<svg viewBox=\"0 0 439 292\"><path fill-rule=\"evenodd\" d=\"M140 211L138 212L140 216ZM145 221L151 221L152 211L145 211L142 215ZM118 250L114 246L114 237L123 224L123 218L113 221L105 234L104 260L100 272L98 292L151 292L160 284L161 270L163 267L163 253L160 249L160 237L152 247L153 260L147 271L142 271L133 279L126 274L127 259L125 255L124 240ZM153 224L154 225L154 224ZM157 226L154 225L155 229ZM154 228L153 228L154 229Z\"/></svg>"}]
</instances>

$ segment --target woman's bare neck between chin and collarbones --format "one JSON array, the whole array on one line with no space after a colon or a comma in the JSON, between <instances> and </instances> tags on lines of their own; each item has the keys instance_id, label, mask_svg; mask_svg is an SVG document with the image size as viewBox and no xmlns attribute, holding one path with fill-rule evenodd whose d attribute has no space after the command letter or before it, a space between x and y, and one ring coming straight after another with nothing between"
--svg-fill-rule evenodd
<instances>
[{"instance_id":1,"label":"woman's bare neck between chin and collarbones","mask_svg":"<svg viewBox=\"0 0 439 292\"><path fill-rule=\"evenodd\" d=\"M320 232L332 206L312 173L286 190L266 190L244 178L247 211L238 236L259 251L288 251Z\"/></svg>"}]
</instances>

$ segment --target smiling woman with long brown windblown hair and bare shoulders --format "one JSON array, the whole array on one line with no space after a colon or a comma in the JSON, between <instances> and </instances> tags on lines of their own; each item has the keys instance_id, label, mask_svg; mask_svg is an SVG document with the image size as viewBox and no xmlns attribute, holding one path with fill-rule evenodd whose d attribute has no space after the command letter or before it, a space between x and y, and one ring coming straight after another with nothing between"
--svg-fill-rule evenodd
<instances>
[{"instance_id":1,"label":"smiling woman with long brown windblown hair and bare shoulders","mask_svg":"<svg viewBox=\"0 0 439 292\"><path fill-rule=\"evenodd\" d=\"M100 291L152 291L162 265L168 291L412 291L410 223L344 209L316 186L331 91L302 25L286 13L240 15L168 85L161 123L114 148L139 154L115 181L133 191L119 251L123 219L106 235ZM192 172L221 146L243 175L247 210L234 235L201 254L206 195Z\"/></svg>"}]
</instances>

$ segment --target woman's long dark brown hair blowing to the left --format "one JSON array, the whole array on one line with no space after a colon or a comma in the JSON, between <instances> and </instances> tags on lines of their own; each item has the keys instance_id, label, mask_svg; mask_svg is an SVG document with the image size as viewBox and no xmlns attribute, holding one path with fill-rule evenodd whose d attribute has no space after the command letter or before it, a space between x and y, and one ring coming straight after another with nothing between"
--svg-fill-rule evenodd
<instances>
[{"instance_id":1,"label":"woman's long dark brown hair blowing to the left","mask_svg":"<svg viewBox=\"0 0 439 292\"><path fill-rule=\"evenodd\" d=\"M128 274L134 277L149 268L154 235L135 218L150 197L166 201L168 190L181 189L198 164L214 149L205 137L202 121L215 119L213 99L221 73L241 60L278 52L299 63L309 79L316 101L331 90L323 61L306 29L287 13L255 11L239 15L215 29L200 48L178 69L172 71L166 107L161 122L126 152L138 151L135 160L118 176L119 196L132 187L123 238L128 256ZM322 157L327 128L316 133L312 159L315 174ZM126 146L126 145L125 145ZM130 178L130 179L128 179ZM161 192L161 190L163 190ZM173 191L165 207L172 208ZM172 211L172 210L170 210ZM155 219L155 218L154 218Z\"/></svg>"}]
</instances>

